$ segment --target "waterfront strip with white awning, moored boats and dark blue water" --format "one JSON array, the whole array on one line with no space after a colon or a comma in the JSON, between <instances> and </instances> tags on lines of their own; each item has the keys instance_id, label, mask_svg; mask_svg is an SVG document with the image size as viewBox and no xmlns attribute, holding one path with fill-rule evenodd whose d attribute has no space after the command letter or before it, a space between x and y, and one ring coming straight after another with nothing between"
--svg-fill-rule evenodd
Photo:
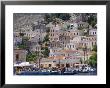
<instances>
[{"instance_id":1,"label":"waterfront strip with white awning, moored boats and dark blue water","mask_svg":"<svg viewBox=\"0 0 110 88\"><path fill-rule=\"evenodd\" d=\"M16 65L14 75L97 75L97 69L87 64L76 67L37 68L32 64Z\"/></svg>"}]
</instances>

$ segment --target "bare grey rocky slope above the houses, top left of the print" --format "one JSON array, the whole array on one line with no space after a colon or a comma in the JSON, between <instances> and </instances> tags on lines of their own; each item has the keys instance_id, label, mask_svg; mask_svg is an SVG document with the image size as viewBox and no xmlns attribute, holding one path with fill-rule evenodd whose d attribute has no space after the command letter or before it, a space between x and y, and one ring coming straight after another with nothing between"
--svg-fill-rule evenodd
<instances>
[{"instance_id":1,"label":"bare grey rocky slope above the houses, top left of the print","mask_svg":"<svg viewBox=\"0 0 110 88\"><path fill-rule=\"evenodd\" d=\"M44 21L44 14L14 13L13 18L14 31L28 31Z\"/></svg>"}]
</instances>

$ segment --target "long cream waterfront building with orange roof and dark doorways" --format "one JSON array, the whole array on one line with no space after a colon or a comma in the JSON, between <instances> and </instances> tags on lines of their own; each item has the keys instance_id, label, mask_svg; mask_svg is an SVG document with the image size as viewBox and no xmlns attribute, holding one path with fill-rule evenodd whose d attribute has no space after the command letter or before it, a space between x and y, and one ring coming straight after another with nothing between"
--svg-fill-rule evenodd
<instances>
[{"instance_id":1,"label":"long cream waterfront building with orange roof and dark doorways","mask_svg":"<svg viewBox=\"0 0 110 88\"><path fill-rule=\"evenodd\" d=\"M60 63L60 64L59 64ZM73 67L75 64L80 64L80 58L65 58L64 56L49 57L40 62L40 65L44 68L49 67Z\"/></svg>"}]
</instances>

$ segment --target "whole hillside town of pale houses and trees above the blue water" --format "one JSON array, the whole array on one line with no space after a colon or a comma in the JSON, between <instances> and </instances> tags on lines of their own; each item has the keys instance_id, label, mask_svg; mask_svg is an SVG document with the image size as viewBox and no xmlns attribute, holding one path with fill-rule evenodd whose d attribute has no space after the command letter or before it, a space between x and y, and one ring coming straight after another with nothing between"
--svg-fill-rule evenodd
<instances>
[{"instance_id":1,"label":"whole hillside town of pale houses and trees above the blue water","mask_svg":"<svg viewBox=\"0 0 110 88\"><path fill-rule=\"evenodd\" d=\"M96 13L14 13L13 19L14 74L96 71Z\"/></svg>"}]
</instances>

